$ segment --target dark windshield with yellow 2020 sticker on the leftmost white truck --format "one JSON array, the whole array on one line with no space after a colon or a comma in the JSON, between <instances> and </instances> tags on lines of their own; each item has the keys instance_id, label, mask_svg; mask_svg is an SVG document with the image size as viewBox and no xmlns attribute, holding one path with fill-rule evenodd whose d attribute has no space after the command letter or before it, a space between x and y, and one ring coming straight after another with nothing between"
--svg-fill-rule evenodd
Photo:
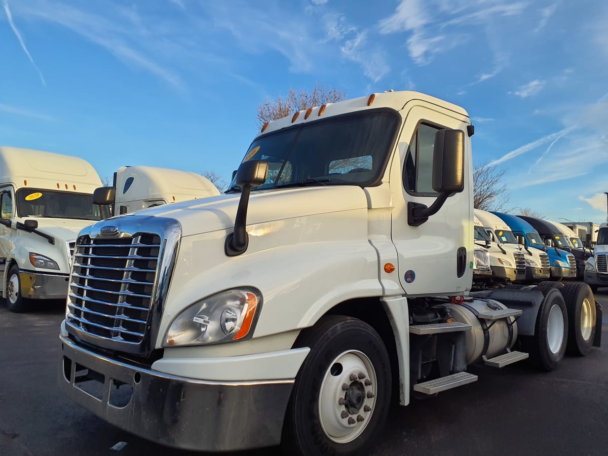
<instances>
[{"instance_id":1,"label":"dark windshield with yellow 2020 sticker on the leftmost white truck","mask_svg":"<svg viewBox=\"0 0 608 456\"><path fill-rule=\"evenodd\" d=\"M21 188L16 192L16 202L21 217L101 219L93 195Z\"/></svg>"}]
</instances>

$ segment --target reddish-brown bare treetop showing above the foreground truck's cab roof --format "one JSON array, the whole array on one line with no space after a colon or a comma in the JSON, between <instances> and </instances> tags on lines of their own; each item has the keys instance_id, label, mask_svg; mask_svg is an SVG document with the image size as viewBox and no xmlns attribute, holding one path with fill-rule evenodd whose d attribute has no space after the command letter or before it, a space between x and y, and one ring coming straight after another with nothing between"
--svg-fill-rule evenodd
<instances>
[{"instance_id":1,"label":"reddish-brown bare treetop showing above the foreground truck's cab roof","mask_svg":"<svg viewBox=\"0 0 608 456\"><path fill-rule=\"evenodd\" d=\"M312 90L299 89L295 91L289 87L286 97L278 95L277 98L266 98L257 108L255 121L258 126L264 125L271 120L281 119L282 117L294 114L302 109L313 108L314 106L325 105L326 103L336 103L348 97L346 89L339 90L336 87L325 86L323 82L317 82Z\"/></svg>"}]
</instances>

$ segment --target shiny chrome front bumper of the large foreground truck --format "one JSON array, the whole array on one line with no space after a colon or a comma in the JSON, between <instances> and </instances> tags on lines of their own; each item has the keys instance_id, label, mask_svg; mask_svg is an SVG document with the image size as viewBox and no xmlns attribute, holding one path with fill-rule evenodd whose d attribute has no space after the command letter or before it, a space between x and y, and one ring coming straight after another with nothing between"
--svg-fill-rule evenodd
<instances>
[{"instance_id":1,"label":"shiny chrome front bumper of the large foreground truck","mask_svg":"<svg viewBox=\"0 0 608 456\"><path fill-rule=\"evenodd\" d=\"M218 382L173 376L114 361L60 339L60 388L120 429L198 451L235 451L280 442L293 379ZM94 394L91 384L97 388ZM126 394L119 395L121 389Z\"/></svg>"}]
</instances>

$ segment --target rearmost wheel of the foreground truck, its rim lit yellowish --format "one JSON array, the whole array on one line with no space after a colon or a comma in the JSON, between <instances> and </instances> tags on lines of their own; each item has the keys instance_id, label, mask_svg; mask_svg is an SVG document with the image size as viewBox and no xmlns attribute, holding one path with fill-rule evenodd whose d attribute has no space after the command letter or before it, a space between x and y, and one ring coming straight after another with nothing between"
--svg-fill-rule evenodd
<instances>
[{"instance_id":1,"label":"rearmost wheel of the foreground truck, its rim lit yellowish","mask_svg":"<svg viewBox=\"0 0 608 456\"><path fill-rule=\"evenodd\" d=\"M585 356L595 339L595 299L586 283L568 283L562 289L568 309L568 353Z\"/></svg>"}]
</instances>

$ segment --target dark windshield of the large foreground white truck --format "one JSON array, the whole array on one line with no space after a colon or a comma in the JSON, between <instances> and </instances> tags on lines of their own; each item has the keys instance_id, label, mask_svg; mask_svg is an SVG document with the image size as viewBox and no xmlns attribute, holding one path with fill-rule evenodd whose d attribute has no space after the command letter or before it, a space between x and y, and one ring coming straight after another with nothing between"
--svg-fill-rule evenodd
<instances>
[{"instance_id":1,"label":"dark windshield of the large foreground white truck","mask_svg":"<svg viewBox=\"0 0 608 456\"><path fill-rule=\"evenodd\" d=\"M384 109L302 123L255 140L243 162L268 160L268 178L257 190L372 184L384 170L397 125L395 113Z\"/></svg>"}]
</instances>

